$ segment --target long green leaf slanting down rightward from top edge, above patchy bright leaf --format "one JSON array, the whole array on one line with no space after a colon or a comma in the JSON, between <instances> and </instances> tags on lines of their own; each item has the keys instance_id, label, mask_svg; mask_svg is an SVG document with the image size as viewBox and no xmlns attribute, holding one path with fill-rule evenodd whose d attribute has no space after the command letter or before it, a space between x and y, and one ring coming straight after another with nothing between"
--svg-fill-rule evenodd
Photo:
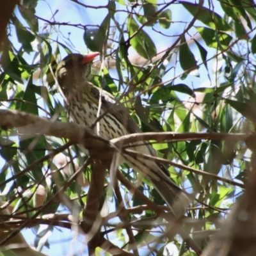
<instances>
[{"instance_id":1,"label":"long green leaf slanting down rightward from top edge, above patchy bright leaf","mask_svg":"<svg viewBox=\"0 0 256 256\"><path fill-rule=\"evenodd\" d=\"M209 26L212 29L220 29L223 31L232 30L227 22L220 16L218 13L212 12L208 8L200 8L198 12L198 4L192 4L188 2L181 2L182 5L191 13L193 17L202 21L205 25Z\"/></svg>"}]
</instances>

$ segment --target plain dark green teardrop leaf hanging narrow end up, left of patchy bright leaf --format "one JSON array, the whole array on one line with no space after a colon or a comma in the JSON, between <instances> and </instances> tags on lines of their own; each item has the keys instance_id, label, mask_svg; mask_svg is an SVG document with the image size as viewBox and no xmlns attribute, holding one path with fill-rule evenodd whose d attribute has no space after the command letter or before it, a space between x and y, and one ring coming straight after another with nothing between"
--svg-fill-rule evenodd
<instances>
[{"instance_id":1,"label":"plain dark green teardrop leaf hanging narrow end up, left of patchy bright leaf","mask_svg":"<svg viewBox=\"0 0 256 256\"><path fill-rule=\"evenodd\" d=\"M188 70L189 68L195 67L196 60L194 54L190 51L184 35L182 35L180 43L180 66L182 67L183 70Z\"/></svg>"}]
</instances>

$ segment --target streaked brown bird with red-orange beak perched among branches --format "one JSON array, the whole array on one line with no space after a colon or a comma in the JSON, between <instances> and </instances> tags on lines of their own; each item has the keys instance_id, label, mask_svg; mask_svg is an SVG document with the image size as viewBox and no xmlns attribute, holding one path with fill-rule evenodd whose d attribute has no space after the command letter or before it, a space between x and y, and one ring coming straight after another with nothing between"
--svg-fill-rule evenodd
<instances>
[{"instance_id":1,"label":"streaked brown bird with red-orange beak perched among branches","mask_svg":"<svg viewBox=\"0 0 256 256\"><path fill-rule=\"evenodd\" d=\"M56 68L56 79L65 96L68 122L74 122L81 127L90 127L100 114L102 115L99 120L100 129L95 125L93 132L105 140L142 132L124 104L111 93L88 81L92 61L98 55L99 52L90 52L86 55L71 53L63 58ZM135 152L157 156L156 150L149 143L130 145L130 147ZM174 216L179 218L184 215L191 203L191 195L170 179L170 173L163 164L148 159L141 161L139 157L129 154L121 154L119 159L119 164L127 163L133 170L150 180Z\"/></svg>"}]
</instances>

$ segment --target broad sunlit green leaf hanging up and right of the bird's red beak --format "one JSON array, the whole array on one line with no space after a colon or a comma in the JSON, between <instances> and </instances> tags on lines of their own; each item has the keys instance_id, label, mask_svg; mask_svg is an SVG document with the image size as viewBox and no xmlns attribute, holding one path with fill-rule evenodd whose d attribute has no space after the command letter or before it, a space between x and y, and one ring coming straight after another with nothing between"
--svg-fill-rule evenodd
<instances>
[{"instance_id":1,"label":"broad sunlit green leaf hanging up and right of the bird's red beak","mask_svg":"<svg viewBox=\"0 0 256 256\"><path fill-rule=\"evenodd\" d=\"M139 29L136 21L130 16L128 18L129 35L132 36L137 33ZM145 59L150 59L156 55L156 46L150 36L142 29L130 40L132 47Z\"/></svg>"}]
</instances>

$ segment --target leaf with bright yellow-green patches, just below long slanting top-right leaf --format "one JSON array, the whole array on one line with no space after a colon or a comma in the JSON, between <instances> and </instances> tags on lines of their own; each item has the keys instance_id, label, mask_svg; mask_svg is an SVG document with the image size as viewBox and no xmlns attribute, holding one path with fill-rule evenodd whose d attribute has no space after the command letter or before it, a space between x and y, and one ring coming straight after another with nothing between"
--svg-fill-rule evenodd
<instances>
[{"instance_id":1,"label":"leaf with bright yellow-green patches, just below long slanting top-right leaf","mask_svg":"<svg viewBox=\"0 0 256 256\"><path fill-rule=\"evenodd\" d=\"M210 28L196 27L196 30L204 39L205 44L212 48L219 49L218 42L220 42L220 46L226 49L232 40L232 36L220 31L217 32L218 38L216 38L216 31Z\"/></svg>"}]
</instances>

